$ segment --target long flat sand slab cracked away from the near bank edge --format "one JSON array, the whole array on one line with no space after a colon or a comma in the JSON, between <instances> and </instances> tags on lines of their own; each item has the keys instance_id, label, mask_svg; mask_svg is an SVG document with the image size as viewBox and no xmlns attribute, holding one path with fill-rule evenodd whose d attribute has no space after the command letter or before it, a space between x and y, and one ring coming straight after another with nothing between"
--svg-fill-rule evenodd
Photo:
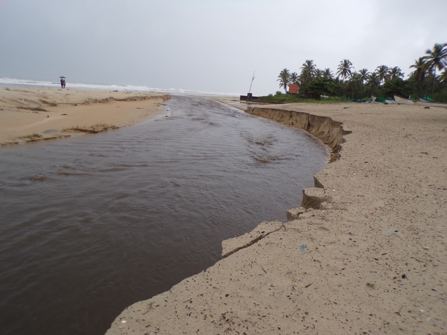
<instances>
[{"instance_id":1,"label":"long flat sand slab cracked away from the near bank edge","mask_svg":"<svg viewBox=\"0 0 447 335\"><path fill-rule=\"evenodd\" d=\"M226 239L222 241L222 256L227 257L240 249L249 247L268 234L280 230L283 226L283 222L264 221L249 233L234 237L232 239Z\"/></svg>"}]
</instances>

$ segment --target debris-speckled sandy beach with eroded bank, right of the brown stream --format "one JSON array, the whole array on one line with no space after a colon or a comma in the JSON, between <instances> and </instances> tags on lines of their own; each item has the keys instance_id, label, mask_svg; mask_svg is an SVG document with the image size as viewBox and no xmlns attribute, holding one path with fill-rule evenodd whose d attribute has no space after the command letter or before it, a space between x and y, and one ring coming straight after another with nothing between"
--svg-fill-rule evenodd
<instances>
[{"instance_id":1,"label":"debris-speckled sandy beach with eroded bank, right of the brown stream","mask_svg":"<svg viewBox=\"0 0 447 335\"><path fill-rule=\"evenodd\" d=\"M447 110L247 112L320 138L332 162L284 208L291 221L223 241L227 257L129 306L106 334L447 334Z\"/></svg>"}]
</instances>

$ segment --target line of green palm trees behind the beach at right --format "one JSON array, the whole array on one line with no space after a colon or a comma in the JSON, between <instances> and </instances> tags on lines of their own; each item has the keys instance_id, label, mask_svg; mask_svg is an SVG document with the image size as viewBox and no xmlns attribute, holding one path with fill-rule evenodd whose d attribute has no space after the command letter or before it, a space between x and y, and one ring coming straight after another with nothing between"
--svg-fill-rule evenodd
<instances>
[{"instance_id":1,"label":"line of green palm trees behind the beach at right","mask_svg":"<svg viewBox=\"0 0 447 335\"><path fill-rule=\"evenodd\" d=\"M374 71L363 68L355 71L349 59L343 59L335 74L331 69L321 70L313 60L306 60L300 73L283 69L278 75L279 87L287 94L287 86L299 84L300 92L314 92L326 96L345 96L360 99L372 94L385 98L399 96L431 96L447 102L447 43L436 43L425 55L415 59L407 79L400 67L378 66ZM281 94L280 91L277 95Z\"/></svg>"}]
</instances>

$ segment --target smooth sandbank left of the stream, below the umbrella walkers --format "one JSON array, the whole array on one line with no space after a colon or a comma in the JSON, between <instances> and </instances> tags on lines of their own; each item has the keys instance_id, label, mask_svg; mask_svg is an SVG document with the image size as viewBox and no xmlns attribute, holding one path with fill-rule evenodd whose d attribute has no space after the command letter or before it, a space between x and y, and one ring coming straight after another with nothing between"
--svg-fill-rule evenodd
<instances>
[{"instance_id":1,"label":"smooth sandbank left of the stream, below the umbrella walkers","mask_svg":"<svg viewBox=\"0 0 447 335\"><path fill-rule=\"evenodd\" d=\"M168 94L0 88L0 144L80 134L72 127L130 126L166 115ZM38 134L38 136L26 137Z\"/></svg>"}]
</instances>

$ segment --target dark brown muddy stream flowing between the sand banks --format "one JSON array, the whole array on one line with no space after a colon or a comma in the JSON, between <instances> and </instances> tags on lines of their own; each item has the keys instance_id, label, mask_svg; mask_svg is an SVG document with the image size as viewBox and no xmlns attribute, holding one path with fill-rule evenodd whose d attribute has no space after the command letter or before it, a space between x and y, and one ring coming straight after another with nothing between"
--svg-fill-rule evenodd
<instances>
[{"instance_id":1,"label":"dark brown muddy stream flowing between the sand banks","mask_svg":"<svg viewBox=\"0 0 447 335\"><path fill-rule=\"evenodd\" d=\"M214 100L171 117L0 147L0 334L103 334L134 302L286 220L328 151Z\"/></svg>"}]
</instances>

